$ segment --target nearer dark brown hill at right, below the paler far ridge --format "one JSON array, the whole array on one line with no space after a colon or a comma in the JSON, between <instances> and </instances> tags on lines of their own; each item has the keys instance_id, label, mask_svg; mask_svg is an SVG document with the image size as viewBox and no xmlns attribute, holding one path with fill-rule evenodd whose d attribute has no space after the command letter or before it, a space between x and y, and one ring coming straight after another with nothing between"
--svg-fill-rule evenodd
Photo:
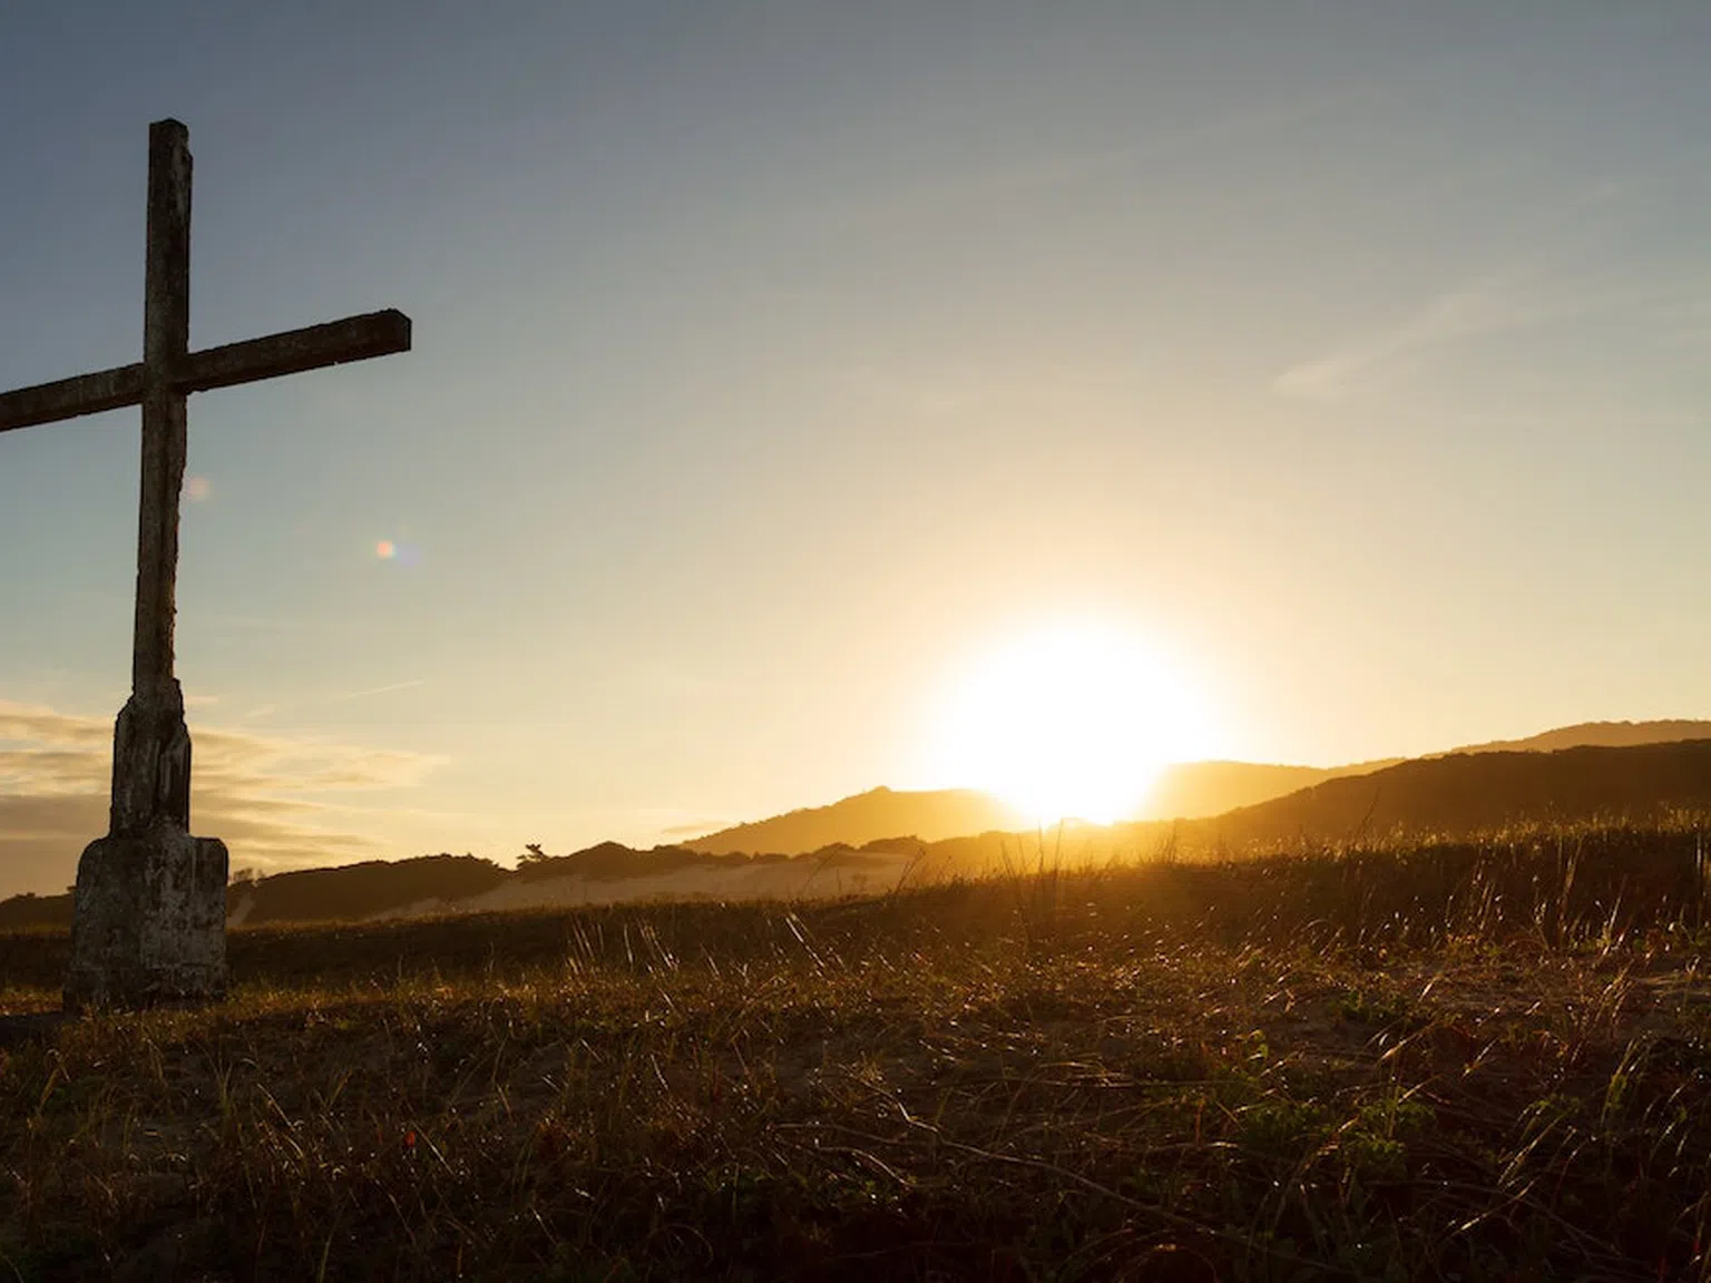
<instances>
[{"instance_id":1,"label":"nearer dark brown hill at right, below the paler far ridge","mask_svg":"<svg viewBox=\"0 0 1711 1283\"><path fill-rule=\"evenodd\" d=\"M1711 739L1420 758L1199 821L1193 835L1232 847L1463 837L1518 821L1649 823L1675 811L1711 813Z\"/></svg>"}]
</instances>

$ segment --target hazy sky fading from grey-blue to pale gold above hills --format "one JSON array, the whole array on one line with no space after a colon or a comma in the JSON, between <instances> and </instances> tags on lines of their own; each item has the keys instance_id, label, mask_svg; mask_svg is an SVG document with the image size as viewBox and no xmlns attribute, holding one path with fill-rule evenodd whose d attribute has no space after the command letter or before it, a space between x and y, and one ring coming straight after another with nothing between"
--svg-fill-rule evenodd
<instances>
[{"instance_id":1,"label":"hazy sky fading from grey-blue to pale gold above hills","mask_svg":"<svg viewBox=\"0 0 1711 1283\"><path fill-rule=\"evenodd\" d=\"M0 387L139 358L166 115L195 346L414 316L192 400L240 866L982 783L943 693L1056 618L1194 753L1702 717L1708 62L1661 0L12 5ZM0 438L0 891L94 837L135 431Z\"/></svg>"}]
</instances>

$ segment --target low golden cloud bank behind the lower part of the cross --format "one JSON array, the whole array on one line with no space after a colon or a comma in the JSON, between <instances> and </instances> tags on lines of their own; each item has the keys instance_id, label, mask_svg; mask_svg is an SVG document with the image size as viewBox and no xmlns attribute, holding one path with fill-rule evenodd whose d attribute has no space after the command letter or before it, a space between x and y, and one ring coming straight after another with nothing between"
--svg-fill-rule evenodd
<instances>
[{"instance_id":1,"label":"low golden cloud bank behind the lower part of the cross","mask_svg":"<svg viewBox=\"0 0 1711 1283\"><path fill-rule=\"evenodd\" d=\"M373 749L198 727L192 826L233 866L277 871L392 854L340 799L412 789L443 763ZM0 701L0 895L55 891L106 831L113 722ZM356 823L352 823L356 821Z\"/></svg>"}]
</instances>

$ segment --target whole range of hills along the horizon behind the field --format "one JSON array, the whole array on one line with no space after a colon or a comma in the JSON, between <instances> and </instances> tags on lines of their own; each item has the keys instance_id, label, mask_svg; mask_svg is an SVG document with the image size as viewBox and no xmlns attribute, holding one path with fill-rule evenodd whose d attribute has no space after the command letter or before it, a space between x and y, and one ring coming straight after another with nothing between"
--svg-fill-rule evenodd
<instances>
[{"instance_id":1,"label":"whole range of hills along the horizon behind the field","mask_svg":"<svg viewBox=\"0 0 1711 1283\"><path fill-rule=\"evenodd\" d=\"M1701 737L1653 742L1684 734ZM440 854L243 879L228 890L226 907L231 925L267 925L648 898L794 900L1015 872L1047 859L1146 855L1167 845L1184 854L1258 852L1410 835L1453 840L1525 823L1651 825L1680 813L1711 814L1711 724L1588 722L1521 741L1331 770L1189 763L1167 777L1162 804L1186 813L1210 799L1302 780L1307 787L1217 816L1066 823L1045 831L1018 826L1011 811L975 790L874 789L652 850L602 842L570 855L542 854L518 869ZM867 835L886 828L917 831ZM779 848L809 835L828 840L808 850ZM753 845L741 850L743 842ZM70 920L70 895L0 902L0 931L65 929Z\"/></svg>"}]
</instances>

